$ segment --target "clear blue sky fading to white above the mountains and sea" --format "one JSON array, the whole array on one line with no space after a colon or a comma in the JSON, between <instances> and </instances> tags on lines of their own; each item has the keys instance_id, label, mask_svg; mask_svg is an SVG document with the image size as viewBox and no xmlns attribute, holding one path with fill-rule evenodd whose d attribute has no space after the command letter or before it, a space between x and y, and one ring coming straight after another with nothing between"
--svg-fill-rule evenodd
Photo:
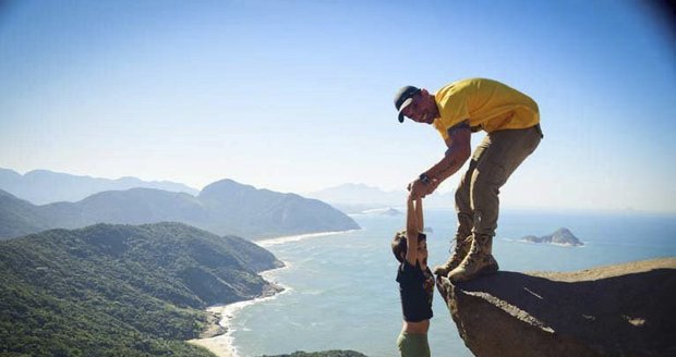
<instances>
[{"instance_id":1,"label":"clear blue sky fading to white above the mountains and sea","mask_svg":"<svg viewBox=\"0 0 676 357\"><path fill-rule=\"evenodd\" d=\"M545 131L504 205L676 212L668 26L615 0L2 2L0 167L403 188L445 148L394 93L481 76Z\"/></svg>"}]
</instances>

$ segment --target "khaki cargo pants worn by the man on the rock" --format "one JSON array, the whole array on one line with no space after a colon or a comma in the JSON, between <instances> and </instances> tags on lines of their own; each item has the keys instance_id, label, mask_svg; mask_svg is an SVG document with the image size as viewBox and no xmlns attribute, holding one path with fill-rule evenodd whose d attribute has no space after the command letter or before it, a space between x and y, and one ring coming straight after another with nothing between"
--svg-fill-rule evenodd
<instances>
[{"instance_id":1,"label":"khaki cargo pants worn by the man on the rock","mask_svg":"<svg viewBox=\"0 0 676 357\"><path fill-rule=\"evenodd\" d=\"M458 233L495 236L499 188L542 139L540 125L490 133L476 147L456 190Z\"/></svg>"}]
</instances>

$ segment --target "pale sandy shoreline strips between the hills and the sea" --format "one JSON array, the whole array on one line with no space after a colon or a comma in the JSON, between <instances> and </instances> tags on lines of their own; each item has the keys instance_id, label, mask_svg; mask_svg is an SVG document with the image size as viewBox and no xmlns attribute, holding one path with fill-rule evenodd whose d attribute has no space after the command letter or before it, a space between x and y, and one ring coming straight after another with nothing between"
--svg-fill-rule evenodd
<instances>
[{"instance_id":1,"label":"pale sandy shoreline strips between the hills and the sea","mask_svg":"<svg viewBox=\"0 0 676 357\"><path fill-rule=\"evenodd\" d=\"M354 231L359 231L359 230L289 235L289 236L265 238L265 239L259 239L255 242L252 241L252 243L263 248L267 248L269 246L280 245L280 244L285 244L289 242L298 242L298 241L312 238L312 237L342 234L342 233L349 233L349 232L354 232ZM200 338L193 338L186 342L193 345L205 347L210 353L219 357L239 357L237 348L233 345L234 337L232 336L233 330L230 327L230 320L234 317L234 313L237 311L243 309L246 306L250 306L250 305L253 305L259 301L265 301L265 300L269 300L273 298L277 298L281 294L285 294L292 290L289 286L285 286L282 284L271 281L271 276L269 276L273 272L280 270L280 269L289 268L291 266L287 261L282 261L282 262L283 262L283 267L273 268L273 269L265 270L258 273L261 276L263 276L263 279L265 279L271 285L281 287L280 291L271 290L270 291L271 294L269 295L267 295L266 293L270 293L270 292L264 292L263 296L259 296L253 299L208 307L206 311L207 313L209 313L209 317L207 318L209 325L207 327L205 331L202 332Z\"/></svg>"}]
</instances>

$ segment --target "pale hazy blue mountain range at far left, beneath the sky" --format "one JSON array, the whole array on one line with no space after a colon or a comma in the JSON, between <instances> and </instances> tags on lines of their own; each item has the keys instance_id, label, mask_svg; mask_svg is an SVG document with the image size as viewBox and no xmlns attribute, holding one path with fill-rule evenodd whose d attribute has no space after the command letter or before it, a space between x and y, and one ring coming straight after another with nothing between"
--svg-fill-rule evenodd
<instances>
[{"instance_id":1,"label":"pale hazy blue mountain range at far left, beneath the sky","mask_svg":"<svg viewBox=\"0 0 676 357\"><path fill-rule=\"evenodd\" d=\"M195 188L169 181L147 182L136 177L109 180L48 170L34 170L22 175L13 170L0 168L0 189L34 205L74 202L104 190L124 190L135 187L182 192L191 195L198 193Z\"/></svg>"}]
</instances>

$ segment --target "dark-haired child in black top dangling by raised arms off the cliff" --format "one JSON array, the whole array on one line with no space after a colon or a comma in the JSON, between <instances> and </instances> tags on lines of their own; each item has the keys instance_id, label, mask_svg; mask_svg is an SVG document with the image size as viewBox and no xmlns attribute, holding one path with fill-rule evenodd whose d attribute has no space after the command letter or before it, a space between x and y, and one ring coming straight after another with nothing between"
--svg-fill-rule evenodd
<instances>
[{"instance_id":1,"label":"dark-haired child in black top dangling by raised arms off the cliff","mask_svg":"<svg viewBox=\"0 0 676 357\"><path fill-rule=\"evenodd\" d=\"M427 268L427 242L423 231L422 199L409 195L406 231L398 232L391 243L399 261L397 282L403 310L403 327L397 338L402 357L428 357L427 330L432 318L434 275Z\"/></svg>"}]
</instances>

